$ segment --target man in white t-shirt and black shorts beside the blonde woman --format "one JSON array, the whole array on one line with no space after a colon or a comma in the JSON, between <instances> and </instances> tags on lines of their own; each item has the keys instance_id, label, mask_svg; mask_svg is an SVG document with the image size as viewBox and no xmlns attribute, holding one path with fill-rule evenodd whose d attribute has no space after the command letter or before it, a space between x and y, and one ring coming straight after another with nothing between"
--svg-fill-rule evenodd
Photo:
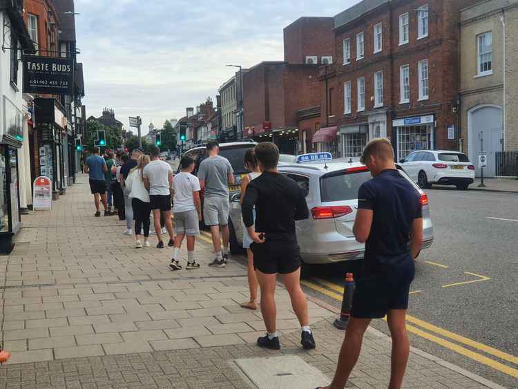
<instances>
[{"instance_id":1,"label":"man in white t-shirt and black shorts beside the blonde woman","mask_svg":"<svg viewBox=\"0 0 518 389\"><path fill-rule=\"evenodd\" d=\"M155 232L158 237L157 249L164 248L162 240L162 228L160 227L160 212L164 213L166 229L169 232L169 247L175 245L173 222L171 222L171 187L173 186L173 169L167 162L160 160L160 149L151 147L151 162L146 164L142 171L144 186L149 190L149 200L153 219L155 219Z\"/></svg>"}]
</instances>

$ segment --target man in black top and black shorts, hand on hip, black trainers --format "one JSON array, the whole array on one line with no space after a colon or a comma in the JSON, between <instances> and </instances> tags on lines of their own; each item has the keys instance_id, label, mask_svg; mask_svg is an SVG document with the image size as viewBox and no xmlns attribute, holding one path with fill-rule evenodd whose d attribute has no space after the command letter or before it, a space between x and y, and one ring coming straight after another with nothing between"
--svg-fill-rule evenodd
<instances>
[{"instance_id":1,"label":"man in black top and black shorts, hand on hip, black trainers","mask_svg":"<svg viewBox=\"0 0 518 389\"><path fill-rule=\"evenodd\" d=\"M274 298L277 274L280 274L302 327L300 343L305 349L315 348L315 340L309 329L306 296L300 288L301 260L295 232L295 220L309 217L305 195L294 180L278 172L279 149L275 144L258 144L256 156L262 174L247 186L242 217L253 240L250 249L261 290L262 318L267 329L267 334L260 337L257 343L260 347L280 349Z\"/></svg>"}]
</instances>

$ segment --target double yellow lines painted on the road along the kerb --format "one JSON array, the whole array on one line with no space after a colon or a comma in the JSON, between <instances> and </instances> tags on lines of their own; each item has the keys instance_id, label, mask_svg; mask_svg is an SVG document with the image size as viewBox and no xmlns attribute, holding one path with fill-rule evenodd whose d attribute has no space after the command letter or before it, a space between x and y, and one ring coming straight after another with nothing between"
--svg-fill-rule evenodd
<instances>
[{"instance_id":1,"label":"double yellow lines painted on the road along the kerb","mask_svg":"<svg viewBox=\"0 0 518 389\"><path fill-rule=\"evenodd\" d=\"M335 300L342 301L343 287L335 283L322 280L320 278L314 278L314 281L316 282L303 280L300 281L300 283L311 288L312 290L316 290L317 292L334 298ZM499 361L495 361L495 359L486 357L486 355L481 354L480 352L470 350L469 348L464 347L464 345L467 345L474 350L484 352L492 357L497 357L502 361L510 362L515 366L518 365L518 357L515 357L514 355L508 354L501 350L497 350L496 348L492 348L488 345L479 343L472 339L466 338L465 336L454 334L453 332L437 327L437 325L433 325L427 323L426 321L422 321L421 319L417 319L414 316L407 315L407 322L412 324L407 324L408 332L421 336L424 339L428 339L433 343L437 343L443 346L444 348L448 348L449 350L452 350L474 361L482 363L483 365L490 366L491 368L508 374L511 377L518 378L518 370L516 368L508 366ZM427 330L428 332L425 330ZM441 337L438 335L440 335ZM445 338L450 339L451 341L446 340ZM454 343L452 341L455 341L457 343Z\"/></svg>"}]
</instances>

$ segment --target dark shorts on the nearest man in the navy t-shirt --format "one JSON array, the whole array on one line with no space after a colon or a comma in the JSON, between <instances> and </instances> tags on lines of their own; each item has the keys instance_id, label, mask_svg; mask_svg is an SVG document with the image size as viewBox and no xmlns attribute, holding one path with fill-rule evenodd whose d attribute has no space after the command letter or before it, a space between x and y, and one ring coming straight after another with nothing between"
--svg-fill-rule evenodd
<instances>
[{"instance_id":1,"label":"dark shorts on the nearest man in the navy t-shirt","mask_svg":"<svg viewBox=\"0 0 518 389\"><path fill-rule=\"evenodd\" d=\"M387 272L359 276L354 288L351 316L381 319L388 310L406 310L414 274L414 260L411 260Z\"/></svg>"}]
</instances>

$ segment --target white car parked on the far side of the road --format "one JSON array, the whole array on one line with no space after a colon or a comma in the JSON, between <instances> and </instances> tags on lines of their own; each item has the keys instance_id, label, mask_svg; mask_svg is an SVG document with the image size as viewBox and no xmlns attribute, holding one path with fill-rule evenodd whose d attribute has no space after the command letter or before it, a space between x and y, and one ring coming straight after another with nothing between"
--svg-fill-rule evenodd
<instances>
[{"instance_id":1,"label":"white car parked on the far side of the road","mask_svg":"<svg viewBox=\"0 0 518 389\"><path fill-rule=\"evenodd\" d=\"M410 178L423 189L441 184L465 190L474 181L474 166L468 155L459 151L414 151L400 162Z\"/></svg>"}]
</instances>

